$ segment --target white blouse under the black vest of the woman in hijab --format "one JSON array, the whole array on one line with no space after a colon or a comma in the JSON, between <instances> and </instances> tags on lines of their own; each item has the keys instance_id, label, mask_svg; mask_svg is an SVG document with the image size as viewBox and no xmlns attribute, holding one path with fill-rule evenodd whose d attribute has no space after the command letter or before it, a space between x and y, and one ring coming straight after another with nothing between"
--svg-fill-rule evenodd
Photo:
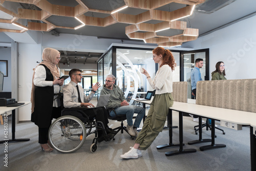
<instances>
[{"instance_id":1,"label":"white blouse under the black vest of the woman in hijab","mask_svg":"<svg viewBox=\"0 0 256 171\"><path fill-rule=\"evenodd\" d=\"M60 72L60 70L59 70ZM63 74L60 72L60 77L62 76ZM54 79L57 79L57 77L55 77ZM35 69L35 77L33 79L33 82L35 84L35 86L37 87L47 87L47 86L52 86L53 84L53 81L46 81L46 69L44 66L37 66L36 69ZM53 90L54 90L54 93L59 93L59 90L60 90L60 86L59 84L55 84L53 85ZM60 100L56 97L58 96L53 96L53 99L55 99L53 101L53 107L59 107L60 106Z\"/></svg>"}]
</instances>

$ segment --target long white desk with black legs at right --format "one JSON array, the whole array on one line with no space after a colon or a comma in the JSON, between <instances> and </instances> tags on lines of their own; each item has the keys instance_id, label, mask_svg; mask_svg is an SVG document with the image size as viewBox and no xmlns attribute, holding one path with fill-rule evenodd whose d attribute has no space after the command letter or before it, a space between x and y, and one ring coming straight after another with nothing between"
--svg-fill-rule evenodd
<instances>
[{"instance_id":1,"label":"long white desk with black legs at right","mask_svg":"<svg viewBox=\"0 0 256 171\"><path fill-rule=\"evenodd\" d=\"M195 114L203 117L207 117L212 119L211 120L211 144L201 146L200 150L204 151L205 149L212 149L212 148L220 148L225 147L225 144L215 144L215 119L223 120L227 122L243 124L243 125L250 125L250 148L251 148L251 170L256 170L256 137L253 135L253 127L256 125L256 113L252 112L244 112L244 111L237 111L237 110L230 110L230 109L223 109L223 108L215 108L211 106L199 105L199 104L189 104L189 103L182 103L182 102L174 102L174 105L169 108L171 111L178 111L179 112L179 138L180 138L180 149L177 151L166 152L166 156L172 156L180 153L194 153L196 149L183 149L183 124L182 124L182 117L183 113L188 114ZM172 118L172 112L169 112L169 118ZM201 123L202 124L202 119ZM172 132L172 127L169 126L169 132ZM169 134L172 135L172 134Z\"/></svg>"}]
</instances>

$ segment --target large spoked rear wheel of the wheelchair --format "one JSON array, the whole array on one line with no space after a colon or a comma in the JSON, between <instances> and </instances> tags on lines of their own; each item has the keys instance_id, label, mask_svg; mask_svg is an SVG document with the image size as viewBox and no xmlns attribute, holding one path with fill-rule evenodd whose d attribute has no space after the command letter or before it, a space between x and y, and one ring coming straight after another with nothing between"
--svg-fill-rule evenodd
<instances>
[{"instance_id":1,"label":"large spoked rear wheel of the wheelchair","mask_svg":"<svg viewBox=\"0 0 256 171\"><path fill-rule=\"evenodd\" d=\"M59 152L72 153L86 140L86 127L74 116L61 116L50 126L48 137L51 145Z\"/></svg>"}]
</instances>

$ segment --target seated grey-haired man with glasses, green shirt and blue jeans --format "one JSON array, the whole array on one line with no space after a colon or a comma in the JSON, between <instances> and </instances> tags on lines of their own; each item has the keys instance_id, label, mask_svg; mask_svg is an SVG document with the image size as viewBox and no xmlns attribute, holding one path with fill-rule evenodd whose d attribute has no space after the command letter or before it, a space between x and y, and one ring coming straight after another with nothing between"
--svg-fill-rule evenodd
<instances>
[{"instance_id":1,"label":"seated grey-haired man with glasses, green shirt and blue jeans","mask_svg":"<svg viewBox=\"0 0 256 171\"><path fill-rule=\"evenodd\" d=\"M137 127L140 126L140 122L145 115L145 109L136 105L129 105L122 90L114 84L115 80L116 77L112 74L106 76L105 84L103 85L100 95L111 94L109 103L105 106L106 109L114 108L117 115L126 115L127 131L131 136L137 137ZM138 115L133 124L134 113L137 113ZM110 112L110 116L115 116L114 111Z\"/></svg>"}]
</instances>

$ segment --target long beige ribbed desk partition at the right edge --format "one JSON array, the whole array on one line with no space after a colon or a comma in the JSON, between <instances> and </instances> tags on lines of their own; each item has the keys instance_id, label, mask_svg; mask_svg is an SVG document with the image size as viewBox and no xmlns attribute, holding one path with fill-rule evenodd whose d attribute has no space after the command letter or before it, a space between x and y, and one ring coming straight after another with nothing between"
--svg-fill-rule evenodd
<instances>
[{"instance_id":1,"label":"long beige ribbed desk partition at the right edge","mask_svg":"<svg viewBox=\"0 0 256 171\"><path fill-rule=\"evenodd\" d=\"M256 112L256 79L198 81L196 104Z\"/></svg>"}]
</instances>

